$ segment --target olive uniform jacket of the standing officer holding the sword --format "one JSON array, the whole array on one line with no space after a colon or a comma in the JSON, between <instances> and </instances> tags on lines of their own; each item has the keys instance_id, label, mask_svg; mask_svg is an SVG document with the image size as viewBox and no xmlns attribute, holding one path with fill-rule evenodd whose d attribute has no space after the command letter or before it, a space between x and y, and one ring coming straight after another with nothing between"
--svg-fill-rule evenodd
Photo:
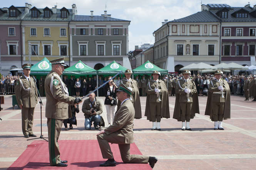
<instances>
[{"instance_id":1,"label":"olive uniform jacket of the standing officer holding the sword","mask_svg":"<svg viewBox=\"0 0 256 170\"><path fill-rule=\"evenodd\" d=\"M68 119L72 117L70 105L74 105L75 97L69 96L67 86L60 76L54 72L45 78L45 117L52 119Z\"/></svg>"}]
</instances>

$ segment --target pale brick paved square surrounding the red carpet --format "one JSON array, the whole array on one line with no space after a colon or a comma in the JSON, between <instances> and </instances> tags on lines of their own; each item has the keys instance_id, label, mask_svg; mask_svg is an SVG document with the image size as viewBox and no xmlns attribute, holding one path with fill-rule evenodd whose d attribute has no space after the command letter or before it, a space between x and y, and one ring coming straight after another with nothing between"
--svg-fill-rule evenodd
<instances>
[{"instance_id":1,"label":"pale brick paved square surrounding the red carpet","mask_svg":"<svg viewBox=\"0 0 256 170\"><path fill-rule=\"evenodd\" d=\"M99 97L104 100L104 97ZM213 122L204 116L207 97L199 97L200 113L191 119L193 131L182 131L176 119L162 119L162 131L152 131L152 123L144 116L146 97L141 97L142 119L134 120L134 142L142 154L156 156L155 170L176 169L255 169L256 167L256 102L231 96L231 119L224 120L225 130L213 130ZM45 97L42 98L45 104ZM175 97L169 97L172 117ZM0 111L0 169L7 169L32 140L23 137L21 110L12 109L12 96L5 96ZM95 140L98 130L84 129L82 104L77 113L77 126L60 133L59 140ZM106 110L102 114L107 124ZM45 106L42 107L42 133L47 137ZM40 136L40 104L34 113L33 132ZM30 138L31 139L31 138ZM41 140L41 139L37 139ZM61 147L61 146L60 146ZM65 158L68 160L68 158Z\"/></svg>"}]
</instances>

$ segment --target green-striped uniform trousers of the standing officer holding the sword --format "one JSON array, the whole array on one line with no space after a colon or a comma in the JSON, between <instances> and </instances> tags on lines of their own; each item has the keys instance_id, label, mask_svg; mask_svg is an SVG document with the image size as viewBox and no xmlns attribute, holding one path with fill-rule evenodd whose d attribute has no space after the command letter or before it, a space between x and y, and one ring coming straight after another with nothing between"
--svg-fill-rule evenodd
<instances>
[{"instance_id":1,"label":"green-striped uniform trousers of the standing officer holding the sword","mask_svg":"<svg viewBox=\"0 0 256 170\"><path fill-rule=\"evenodd\" d=\"M63 121L64 119L47 118L50 165L56 165L61 161L58 139Z\"/></svg>"}]
</instances>

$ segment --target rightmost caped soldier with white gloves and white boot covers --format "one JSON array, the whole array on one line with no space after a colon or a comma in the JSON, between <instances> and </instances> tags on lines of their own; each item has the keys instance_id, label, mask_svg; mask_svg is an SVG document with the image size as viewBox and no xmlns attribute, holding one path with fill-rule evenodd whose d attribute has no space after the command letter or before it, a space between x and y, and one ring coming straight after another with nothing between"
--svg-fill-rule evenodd
<instances>
[{"instance_id":1,"label":"rightmost caped soldier with white gloves and white boot covers","mask_svg":"<svg viewBox=\"0 0 256 170\"><path fill-rule=\"evenodd\" d=\"M222 74L220 70L214 73L215 79L212 79L209 84L205 109L205 115L209 115L214 122L214 130L224 130L223 119L230 119L230 89L228 82L221 79Z\"/></svg>"}]
</instances>

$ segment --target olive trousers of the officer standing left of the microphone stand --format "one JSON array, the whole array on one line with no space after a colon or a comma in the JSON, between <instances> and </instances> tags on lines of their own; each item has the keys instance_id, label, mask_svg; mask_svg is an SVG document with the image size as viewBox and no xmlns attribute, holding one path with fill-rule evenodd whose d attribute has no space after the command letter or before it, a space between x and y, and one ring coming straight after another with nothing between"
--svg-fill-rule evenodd
<instances>
[{"instance_id":1,"label":"olive trousers of the officer standing left of the microphone stand","mask_svg":"<svg viewBox=\"0 0 256 170\"><path fill-rule=\"evenodd\" d=\"M33 126L34 109L35 107L22 107L21 109L22 132L24 136L33 134L32 126Z\"/></svg>"}]
</instances>

